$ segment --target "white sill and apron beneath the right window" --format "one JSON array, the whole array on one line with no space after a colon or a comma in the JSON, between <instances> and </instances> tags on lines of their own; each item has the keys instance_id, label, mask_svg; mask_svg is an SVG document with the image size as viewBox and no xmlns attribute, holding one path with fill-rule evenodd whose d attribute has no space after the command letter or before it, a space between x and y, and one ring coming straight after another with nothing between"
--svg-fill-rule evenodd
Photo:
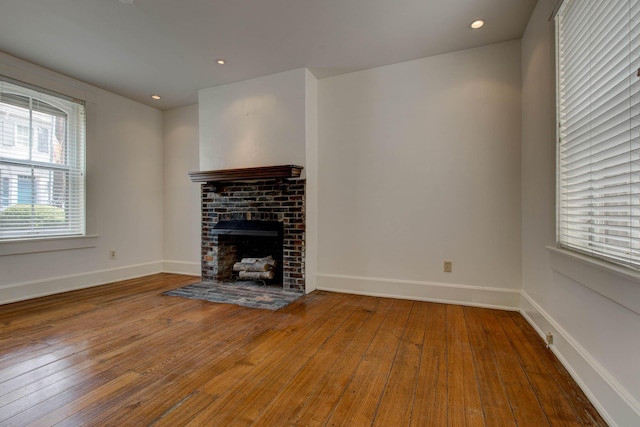
<instances>
[{"instance_id":1,"label":"white sill and apron beneath the right window","mask_svg":"<svg viewBox=\"0 0 640 427\"><path fill-rule=\"evenodd\" d=\"M554 271L640 314L640 271L555 246L547 249Z\"/></svg>"}]
</instances>

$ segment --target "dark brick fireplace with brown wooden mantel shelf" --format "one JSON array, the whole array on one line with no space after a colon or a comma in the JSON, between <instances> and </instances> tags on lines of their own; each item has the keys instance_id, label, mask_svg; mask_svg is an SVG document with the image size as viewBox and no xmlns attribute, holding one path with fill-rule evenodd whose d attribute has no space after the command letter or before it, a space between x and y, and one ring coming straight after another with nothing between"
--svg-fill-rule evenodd
<instances>
[{"instance_id":1,"label":"dark brick fireplace with brown wooden mantel shelf","mask_svg":"<svg viewBox=\"0 0 640 427\"><path fill-rule=\"evenodd\" d=\"M293 169L292 169L293 168ZM233 264L241 257L274 256L278 259L270 284L285 290L305 289L305 180L297 178L299 166L192 172L202 182L202 280L234 280ZM264 178L264 179L262 179ZM216 226L245 221L249 229L281 225L277 234L234 233ZM271 226L272 227L272 226Z\"/></svg>"}]
</instances>

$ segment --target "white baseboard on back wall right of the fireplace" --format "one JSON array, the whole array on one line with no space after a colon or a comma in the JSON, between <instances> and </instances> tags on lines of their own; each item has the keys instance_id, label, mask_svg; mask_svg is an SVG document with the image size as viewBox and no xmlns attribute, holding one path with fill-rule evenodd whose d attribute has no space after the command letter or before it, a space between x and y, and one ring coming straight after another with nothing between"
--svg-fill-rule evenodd
<instances>
[{"instance_id":1,"label":"white baseboard on back wall right of the fireplace","mask_svg":"<svg viewBox=\"0 0 640 427\"><path fill-rule=\"evenodd\" d=\"M318 290L516 311L520 290L450 283L318 274Z\"/></svg>"}]
</instances>

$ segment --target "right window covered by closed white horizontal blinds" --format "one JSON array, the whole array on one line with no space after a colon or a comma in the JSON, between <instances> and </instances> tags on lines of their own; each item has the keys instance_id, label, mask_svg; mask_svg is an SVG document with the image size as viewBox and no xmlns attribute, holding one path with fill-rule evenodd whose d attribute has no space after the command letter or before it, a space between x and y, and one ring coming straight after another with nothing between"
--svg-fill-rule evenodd
<instances>
[{"instance_id":1,"label":"right window covered by closed white horizontal blinds","mask_svg":"<svg viewBox=\"0 0 640 427\"><path fill-rule=\"evenodd\" d=\"M565 0L556 18L558 243L640 268L640 4Z\"/></svg>"}]
</instances>

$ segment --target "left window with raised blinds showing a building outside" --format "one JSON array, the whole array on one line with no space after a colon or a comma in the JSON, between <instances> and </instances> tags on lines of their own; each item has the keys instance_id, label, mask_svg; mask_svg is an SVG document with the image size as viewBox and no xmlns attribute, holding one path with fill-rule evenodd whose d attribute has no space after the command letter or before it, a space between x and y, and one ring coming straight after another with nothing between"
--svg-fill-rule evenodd
<instances>
[{"instance_id":1,"label":"left window with raised blinds showing a building outside","mask_svg":"<svg viewBox=\"0 0 640 427\"><path fill-rule=\"evenodd\" d=\"M0 77L0 118L0 240L84 235L84 104Z\"/></svg>"}]
</instances>

